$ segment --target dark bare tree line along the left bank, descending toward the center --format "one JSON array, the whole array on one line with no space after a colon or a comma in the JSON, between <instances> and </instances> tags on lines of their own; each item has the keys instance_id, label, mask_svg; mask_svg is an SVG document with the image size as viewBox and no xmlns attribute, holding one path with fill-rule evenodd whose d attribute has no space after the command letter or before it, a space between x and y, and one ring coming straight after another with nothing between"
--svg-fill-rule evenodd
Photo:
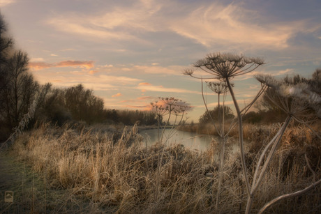
<instances>
[{"instance_id":1,"label":"dark bare tree line along the left bank, descending toward the center","mask_svg":"<svg viewBox=\"0 0 321 214\"><path fill-rule=\"evenodd\" d=\"M68 121L124 125L133 125L137 121L142 125L157 123L153 112L105 109L103 99L82 84L67 89L54 89L50 83L41 85L29 72L28 63L28 54L15 48L13 38L8 36L7 24L0 15L0 142L8 138L24 114L29 112L37 95L31 125L36 121L57 125Z\"/></svg>"}]
</instances>

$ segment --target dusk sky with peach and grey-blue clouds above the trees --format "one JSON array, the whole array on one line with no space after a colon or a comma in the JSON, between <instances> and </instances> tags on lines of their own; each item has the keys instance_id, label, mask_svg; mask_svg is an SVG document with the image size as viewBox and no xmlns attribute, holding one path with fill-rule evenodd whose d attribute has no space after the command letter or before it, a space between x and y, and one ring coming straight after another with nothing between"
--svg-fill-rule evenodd
<instances>
[{"instance_id":1,"label":"dusk sky with peach and grey-blue clouds above the trees","mask_svg":"<svg viewBox=\"0 0 321 214\"><path fill-rule=\"evenodd\" d=\"M241 105L260 89L254 74L311 77L321 68L320 0L0 0L0 13L40 84L83 84L107 109L174 97L197 122L201 83L183 72L211 52L264 58L233 79ZM204 93L215 107L216 95Z\"/></svg>"}]
</instances>

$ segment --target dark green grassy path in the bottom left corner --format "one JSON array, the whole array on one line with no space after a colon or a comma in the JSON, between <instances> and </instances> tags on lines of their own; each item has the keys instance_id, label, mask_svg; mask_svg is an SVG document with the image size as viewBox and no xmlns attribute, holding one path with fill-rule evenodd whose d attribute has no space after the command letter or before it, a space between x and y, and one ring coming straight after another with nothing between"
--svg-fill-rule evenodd
<instances>
[{"instance_id":1,"label":"dark green grassy path in the bottom left corner","mask_svg":"<svg viewBox=\"0 0 321 214\"><path fill-rule=\"evenodd\" d=\"M45 188L46 187L46 188ZM43 176L0 152L0 214L2 213L112 213L77 196L72 189L49 188ZM4 201L6 191L13 191L13 203Z\"/></svg>"}]
</instances>

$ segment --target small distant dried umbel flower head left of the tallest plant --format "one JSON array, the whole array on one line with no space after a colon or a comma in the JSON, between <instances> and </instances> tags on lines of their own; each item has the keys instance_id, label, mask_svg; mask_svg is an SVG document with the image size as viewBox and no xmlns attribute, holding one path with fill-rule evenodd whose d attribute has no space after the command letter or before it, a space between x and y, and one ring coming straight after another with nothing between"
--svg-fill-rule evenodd
<instances>
[{"instance_id":1,"label":"small distant dried umbel flower head left of the tallest plant","mask_svg":"<svg viewBox=\"0 0 321 214\"><path fill-rule=\"evenodd\" d=\"M177 98L158 98L158 101L151 102L152 111L156 112L157 116L166 114L182 114L191 109L191 106L186 102Z\"/></svg>"}]
</instances>

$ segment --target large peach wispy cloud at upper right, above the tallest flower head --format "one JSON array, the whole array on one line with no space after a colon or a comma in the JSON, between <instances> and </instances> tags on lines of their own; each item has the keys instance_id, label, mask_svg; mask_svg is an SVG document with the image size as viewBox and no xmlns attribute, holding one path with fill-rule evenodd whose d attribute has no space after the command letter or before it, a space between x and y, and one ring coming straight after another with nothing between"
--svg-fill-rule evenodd
<instances>
[{"instance_id":1,"label":"large peach wispy cloud at upper right, above the tallest flower head","mask_svg":"<svg viewBox=\"0 0 321 214\"><path fill-rule=\"evenodd\" d=\"M215 43L245 45L251 48L282 49L288 47L292 33L299 31L304 23L262 24L255 20L263 17L233 3L228 6L213 3L197 8L186 17L171 24L172 31L192 38L204 46Z\"/></svg>"}]
</instances>

